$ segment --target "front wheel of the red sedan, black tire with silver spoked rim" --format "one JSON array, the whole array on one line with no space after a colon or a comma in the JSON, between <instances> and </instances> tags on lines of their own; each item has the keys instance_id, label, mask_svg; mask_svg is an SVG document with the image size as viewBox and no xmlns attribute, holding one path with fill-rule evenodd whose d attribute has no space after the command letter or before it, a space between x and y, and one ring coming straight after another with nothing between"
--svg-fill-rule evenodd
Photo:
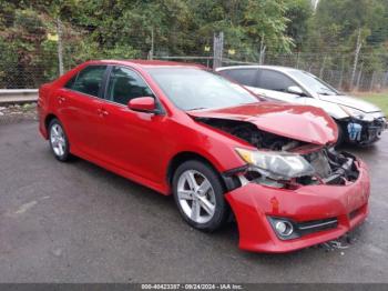
<instances>
[{"instance_id":1,"label":"front wheel of the red sedan, black tire with silver spoked rim","mask_svg":"<svg viewBox=\"0 0 388 291\"><path fill-rule=\"evenodd\" d=\"M228 217L223 183L217 172L204 162L182 163L174 173L173 193L181 215L195 229L215 231Z\"/></svg>"}]
</instances>

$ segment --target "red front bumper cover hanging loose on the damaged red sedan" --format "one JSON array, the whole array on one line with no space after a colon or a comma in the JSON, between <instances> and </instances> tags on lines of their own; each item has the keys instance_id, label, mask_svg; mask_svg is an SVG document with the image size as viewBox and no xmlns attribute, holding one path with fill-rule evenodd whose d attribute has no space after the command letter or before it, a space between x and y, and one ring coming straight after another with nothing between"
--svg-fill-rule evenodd
<instances>
[{"instance_id":1,"label":"red front bumper cover hanging loose on the damaged red sedan","mask_svg":"<svg viewBox=\"0 0 388 291\"><path fill-rule=\"evenodd\" d=\"M359 177L347 185L306 185L297 190L247 183L225 194L237 220L239 248L257 252L289 252L334 240L361 223L368 214L370 193L366 165L358 162ZM268 217L296 222L336 218L336 228L297 239L280 240Z\"/></svg>"}]
</instances>

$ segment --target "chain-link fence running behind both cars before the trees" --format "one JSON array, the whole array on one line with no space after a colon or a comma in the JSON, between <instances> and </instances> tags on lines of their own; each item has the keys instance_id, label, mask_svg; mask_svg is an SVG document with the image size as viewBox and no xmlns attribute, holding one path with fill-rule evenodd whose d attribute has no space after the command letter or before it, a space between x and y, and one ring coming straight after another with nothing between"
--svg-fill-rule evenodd
<instances>
[{"instance_id":1,"label":"chain-link fence running behind both cars before the trees","mask_svg":"<svg viewBox=\"0 0 388 291\"><path fill-rule=\"evenodd\" d=\"M153 30L131 37L121 31L119 39L120 36L125 39L122 43L100 41L98 33L101 32L96 32L95 26L74 29L58 19L25 11L0 19L0 89L39 88L58 78L61 67L67 71L89 59L150 58L196 62L208 68L252 63L287 66L309 71L344 91L388 89L388 52L360 53L355 66L354 53L261 53L259 49L233 48L227 39L214 41L213 36L194 43L195 49L173 50L166 43L175 38L175 32L157 36L163 41L154 41Z\"/></svg>"}]
</instances>

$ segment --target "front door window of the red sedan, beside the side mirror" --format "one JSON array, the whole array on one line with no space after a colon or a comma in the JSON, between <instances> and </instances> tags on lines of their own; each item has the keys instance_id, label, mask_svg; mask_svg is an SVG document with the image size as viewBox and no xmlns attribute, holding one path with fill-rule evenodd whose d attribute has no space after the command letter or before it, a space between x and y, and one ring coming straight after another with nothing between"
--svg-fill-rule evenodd
<instances>
[{"instance_id":1,"label":"front door window of the red sedan, beside the side mirror","mask_svg":"<svg viewBox=\"0 0 388 291\"><path fill-rule=\"evenodd\" d=\"M108 87L108 99L126 106L127 102L137 97L154 97L149 86L134 71L114 67Z\"/></svg>"}]
</instances>

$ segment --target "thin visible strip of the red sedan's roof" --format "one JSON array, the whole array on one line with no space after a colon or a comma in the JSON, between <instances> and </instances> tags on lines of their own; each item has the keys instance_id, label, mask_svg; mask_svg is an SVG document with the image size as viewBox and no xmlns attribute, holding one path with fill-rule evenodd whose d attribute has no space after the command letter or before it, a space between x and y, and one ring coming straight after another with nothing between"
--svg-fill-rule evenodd
<instances>
[{"instance_id":1,"label":"thin visible strip of the red sedan's roof","mask_svg":"<svg viewBox=\"0 0 388 291\"><path fill-rule=\"evenodd\" d=\"M161 67L162 68L181 67L181 68L206 69L206 67L197 63L161 61L161 60L93 60L93 61L89 61L88 63L122 64L122 66L137 67L142 69L161 68Z\"/></svg>"}]
</instances>

